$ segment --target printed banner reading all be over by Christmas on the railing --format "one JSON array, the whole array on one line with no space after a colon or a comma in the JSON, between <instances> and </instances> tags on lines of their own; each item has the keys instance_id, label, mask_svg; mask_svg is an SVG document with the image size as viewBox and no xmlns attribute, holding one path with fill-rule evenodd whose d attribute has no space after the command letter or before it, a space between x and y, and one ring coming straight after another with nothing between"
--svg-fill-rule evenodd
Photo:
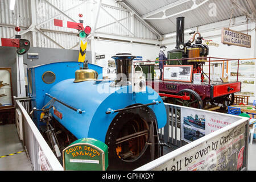
<instances>
[{"instance_id":1,"label":"printed banner reading all be over by Christmas on the railing","mask_svg":"<svg viewBox=\"0 0 256 182\"><path fill-rule=\"evenodd\" d=\"M245 163L246 122L203 142L153 171L236 171Z\"/></svg>"}]
</instances>

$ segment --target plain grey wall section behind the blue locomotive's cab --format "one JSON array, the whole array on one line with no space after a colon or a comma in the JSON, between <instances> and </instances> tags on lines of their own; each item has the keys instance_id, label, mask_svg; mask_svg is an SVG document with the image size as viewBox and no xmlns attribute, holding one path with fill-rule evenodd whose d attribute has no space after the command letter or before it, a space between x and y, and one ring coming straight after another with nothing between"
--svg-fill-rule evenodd
<instances>
[{"instance_id":1,"label":"plain grey wall section behind the blue locomotive's cab","mask_svg":"<svg viewBox=\"0 0 256 182\"><path fill-rule=\"evenodd\" d=\"M31 61L27 59L27 53L24 54L23 61L27 68L62 61L77 61L79 58L78 50L31 47L28 52L39 53L39 59ZM92 63L91 51L86 51L86 60ZM16 48L0 47L0 67L11 67L13 94L17 96ZM25 72L25 77L27 77L27 72Z\"/></svg>"}]
</instances>

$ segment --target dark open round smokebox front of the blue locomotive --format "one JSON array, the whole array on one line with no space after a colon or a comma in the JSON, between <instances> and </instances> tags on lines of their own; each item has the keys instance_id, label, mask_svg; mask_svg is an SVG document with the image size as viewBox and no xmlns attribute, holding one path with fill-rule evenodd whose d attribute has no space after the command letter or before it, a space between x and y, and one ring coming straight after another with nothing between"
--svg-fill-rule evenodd
<instances>
[{"instance_id":1,"label":"dark open round smokebox front of the blue locomotive","mask_svg":"<svg viewBox=\"0 0 256 182\"><path fill-rule=\"evenodd\" d=\"M148 107L122 111L115 116L105 139L109 151L108 170L133 170L159 157L154 123L155 114Z\"/></svg>"}]
</instances>

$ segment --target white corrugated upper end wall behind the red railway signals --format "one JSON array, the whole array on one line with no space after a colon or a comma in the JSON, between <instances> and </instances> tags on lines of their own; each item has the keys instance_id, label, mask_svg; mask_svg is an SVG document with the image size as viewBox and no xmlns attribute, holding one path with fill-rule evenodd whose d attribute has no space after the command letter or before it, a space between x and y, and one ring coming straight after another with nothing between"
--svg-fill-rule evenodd
<instances>
[{"instance_id":1,"label":"white corrugated upper end wall behind the red railway signals","mask_svg":"<svg viewBox=\"0 0 256 182\"><path fill-rule=\"evenodd\" d=\"M18 0L16 1L15 11L9 9L10 0L0 0L0 37L12 38L16 32L14 27L18 19L20 28L20 34L26 31L31 26L31 1L30 0ZM114 34L121 36L133 36L130 33L131 28L131 13L125 9L122 4L117 3L115 0L102 0L102 8L104 8L115 19L121 20L123 24L121 26L104 10L100 10L97 27L97 32L104 32L106 34ZM168 3L168 2L166 2ZM165 5L165 4L164 4ZM55 6L55 7L53 7ZM71 9L75 7L74 9ZM33 8L33 7L32 7ZM77 30L65 27L54 26L53 18L61 19L65 21L74 20L79 22L79 14L83 14L84 23L93 27L96 14L97 3L89 0L35 0L36 16L35 24L39 25L39 31L35 31L36 44L35 47L49 47L49 48L72 48L79 49L79 38L77 37ZM63 11L62 14L60 11ZM93 15L92 13L93 12ZM129 18L127 18L129 17ZM49 20L50 19L50 20ZM113 23L108 25L109 23ZM44 35L43 35L43 34ZM32 33L28 31L22 35L22 38L28 39L32 42ZM50 38L50 39L49 39ZM152 30L146 27L141 20L134 16L134 38L143 38L157 40L159 35L156 35ZM78 46L76 46L76 44Z\"/></svg>"}]
</instances>

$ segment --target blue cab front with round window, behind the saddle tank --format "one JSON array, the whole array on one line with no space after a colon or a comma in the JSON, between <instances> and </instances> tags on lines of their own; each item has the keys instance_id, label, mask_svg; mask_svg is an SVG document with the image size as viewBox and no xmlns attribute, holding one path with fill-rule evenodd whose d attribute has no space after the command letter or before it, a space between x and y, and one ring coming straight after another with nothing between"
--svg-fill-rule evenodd
<instances>
[{"instance_id":1,"label":"blue cab front with round window, behind the saddle tank","mask_svg":"<svg viewBox=\"0 0 256 182\"><path fill-rule=\"evenodd\" d=\"M28 71L31 71L31 86L32 92L28 93L29 96L32 98L31 105L32 108L36 107L37 109L42 109L44 106L44 98L46 97L46 93L49 89L52 88L53 85L56 85L58 82L67 80L72 78L75 80L75 72L79 69L79 62L77 61L67 61L67 62L58 62L58 63L51 63L51 64L44 64L39 65L36 67L28 68ZM102 67L94 64L88 64L89 69L94 69L99 77L98 79L102 79ZM51 71L55 73L56 80L52 84L46 84L42 80L42 75L46 71ZM35 111L33 114L33 121L36 123L36 126L40 128L40 112Z\"/></svg>"}]
</instances>

